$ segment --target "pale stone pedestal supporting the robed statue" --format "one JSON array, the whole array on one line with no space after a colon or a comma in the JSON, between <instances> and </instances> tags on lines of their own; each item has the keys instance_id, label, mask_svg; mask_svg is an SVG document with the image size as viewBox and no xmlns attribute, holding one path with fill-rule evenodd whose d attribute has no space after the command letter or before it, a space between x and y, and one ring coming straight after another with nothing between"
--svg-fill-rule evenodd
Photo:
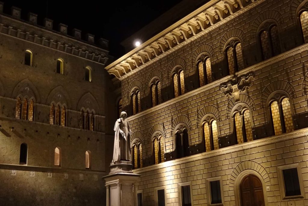
<instances>
[{"instance_id":1,"label":"pale stone pedestal supporting the robed statue","mask_svg":"<svg viewBox=\"0 0 308 206\"><path fill-rule=\"evenodd\" d=\"M140 174L132 172L132 162L111 162L106 181L107 206L137 206L137 182Z\"/></svg>"}]
</instances>

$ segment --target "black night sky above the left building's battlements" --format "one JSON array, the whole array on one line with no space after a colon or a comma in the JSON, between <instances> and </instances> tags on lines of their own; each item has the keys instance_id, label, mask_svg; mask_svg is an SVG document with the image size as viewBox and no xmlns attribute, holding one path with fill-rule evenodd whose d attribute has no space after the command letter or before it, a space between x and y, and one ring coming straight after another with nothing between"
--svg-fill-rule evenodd
<instances>
[{"instance_id":1,"label":"black night sky above the left building's battlements","mask_svg":"<svg viewBox=\"0 0 308 206\"><path fill-rule=\"evenodd\" d=\"M110 54L119 57L123 54L120 42L132 35L144 25L156 19L180 0L156 1L17 1L0 0L4 2L4 12L10 14L11 6L22 9L22 19L27 19L28 12L38 14L38 24L43 25L43 19L54 20L54 29L59 23L68 25L68 34L73 28L82 30L83 36L91 33L95 38L103 37L109 40ZM47 6L48 5L48 6Z\"/></svg>"}]
</instances>

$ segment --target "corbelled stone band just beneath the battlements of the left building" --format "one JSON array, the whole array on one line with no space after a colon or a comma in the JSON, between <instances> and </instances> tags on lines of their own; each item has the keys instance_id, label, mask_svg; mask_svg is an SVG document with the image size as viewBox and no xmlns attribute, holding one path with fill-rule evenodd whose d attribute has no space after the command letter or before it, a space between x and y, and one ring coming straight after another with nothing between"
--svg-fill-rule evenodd
<instances>
[{"instance_id":1,"label":"corbelled stone band just beneath the battlements of the left building","mask_svg":"<svg viewBox=\"0 0 308 206\"><path fill-rule=\"evenodd\" d=\"M0 15L0 34L105 65L108 51L21 20Z\"/></svg>"}]
</instances>

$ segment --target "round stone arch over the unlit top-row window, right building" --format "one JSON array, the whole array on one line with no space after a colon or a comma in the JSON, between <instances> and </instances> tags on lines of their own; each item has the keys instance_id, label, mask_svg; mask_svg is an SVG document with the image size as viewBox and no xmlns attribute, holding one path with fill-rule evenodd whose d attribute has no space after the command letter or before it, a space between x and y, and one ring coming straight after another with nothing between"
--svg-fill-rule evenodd
<instances>
[{"instance_id":1,"label":"round stone arch over the unlit top-row window, right building","mask_svg":"<svg viewBox=\"0 0 308 206\"><path fill-rule=\"evenodd\" d=\"M280 14L279 11L276 10L267 10L263 11L258 17L253 21L253 24L251 25L250 31L251 31L251 37L255 38L257 34L258 27L266 20L274 19L275 22L278 22L278 24L283 24L283 17ZM277 25L279 27L279 25Z\"/></svg>"}]
</instances>

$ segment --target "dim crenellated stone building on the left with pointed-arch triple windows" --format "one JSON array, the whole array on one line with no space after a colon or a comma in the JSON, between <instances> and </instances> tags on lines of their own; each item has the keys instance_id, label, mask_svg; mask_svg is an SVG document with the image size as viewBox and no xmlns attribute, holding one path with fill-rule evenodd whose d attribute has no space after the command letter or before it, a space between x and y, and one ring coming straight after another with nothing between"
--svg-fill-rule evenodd
<instances>
[{"instance_id":1,"label":"dim crenellated stone building on the left with pointed-arch triple windows","mask_svg":"<svg viewBox=\"0 0 308 206\"><path fill-rule=\"evenodd\" d=\"M2 11L0 205L103 205L116 115L108 41Z\"/></svg>"}]
</instances>

